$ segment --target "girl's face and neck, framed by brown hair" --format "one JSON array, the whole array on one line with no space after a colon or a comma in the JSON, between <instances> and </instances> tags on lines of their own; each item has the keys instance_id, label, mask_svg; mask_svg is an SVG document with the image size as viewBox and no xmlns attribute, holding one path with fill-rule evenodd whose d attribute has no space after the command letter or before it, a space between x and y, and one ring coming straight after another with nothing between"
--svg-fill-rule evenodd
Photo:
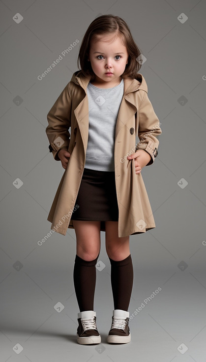
<instances>
[{"instance_id":1,"label":"girl's face and neck, framed by brown hair","mask_svg":"<svg viewBox=\"0 0 206 362\"><path fill-rule=\"evenodd\" d=\"M97 42L91 39L88 57L96 75L94 82L105 88L120 83L120 75L124 72L129 57L127 48L122 44L120 37L117 36L115 40L109 41L111 38L109 34Z\"/></svg>"}]
</instances>

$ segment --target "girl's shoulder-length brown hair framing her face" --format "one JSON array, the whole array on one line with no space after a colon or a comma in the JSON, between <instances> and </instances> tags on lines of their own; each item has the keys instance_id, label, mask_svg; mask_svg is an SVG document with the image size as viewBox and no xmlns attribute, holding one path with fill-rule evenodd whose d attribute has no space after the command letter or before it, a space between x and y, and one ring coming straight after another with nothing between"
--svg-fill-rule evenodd
<instances>
[{"instance_id":1,"label":"girl's shoulder-length brown hair framing her face","mask_svg":"<svg viewBox=\"0 0 206 362\"><path fill-rule=\"evenodd\" d=\"M95 74L91 68L90 62L88 61L90 41L91 38L95 41L97 36L108 34L120 36L122 43L124 46L126 46L129 54L128 63L126 64L125 70L121 77L138 77L137 73L141 68L141 64L137 61L137 57L141 55L141 51L136 45L126 22L122 18L112 14L98 16L89 25L79 50L78 68L79 61L81 66L81 69L79 68L79 70L83 73L84 76L91 76L90 81L95 79Z\"/></svg>"}]
</instances>

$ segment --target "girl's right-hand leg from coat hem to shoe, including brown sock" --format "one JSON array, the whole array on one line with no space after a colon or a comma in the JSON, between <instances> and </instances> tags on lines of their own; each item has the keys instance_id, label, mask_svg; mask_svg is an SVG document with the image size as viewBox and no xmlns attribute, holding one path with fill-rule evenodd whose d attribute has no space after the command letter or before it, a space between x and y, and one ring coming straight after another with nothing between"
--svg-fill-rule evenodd
<instances>
[{"instance_id":1,"label":"girl's right-hand leg from coat hem to shoe, including brown sock","mask_svg":"<svg viewBox=\"0 0 206 362\"><path fill-rule=\"evenodd\" d=\"M129 236L118 237L118 221L105 221L106 252L111 263L111 284L114 309L128 310L132 286L133 265Z\"/></svg>"}]
</instances>

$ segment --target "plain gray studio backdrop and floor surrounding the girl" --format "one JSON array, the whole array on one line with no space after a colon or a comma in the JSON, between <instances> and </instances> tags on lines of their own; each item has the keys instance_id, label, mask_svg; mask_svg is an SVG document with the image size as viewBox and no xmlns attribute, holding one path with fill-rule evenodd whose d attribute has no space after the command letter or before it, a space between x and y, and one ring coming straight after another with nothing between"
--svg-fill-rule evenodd
<instances>
[{"instance_id":1,"label":"plain gray studio backdrop and floor surrounding the girl","mask_svg":"<svg viewBox=\"0 0 206 362\"><path fill-rule=\"evenodd\" d=\"M4 0L0 13L0 362L205 362L206 1ZM37 242L50 231L47 216L64 172L48 149L46 115L78 70L88 25L108 13L128 23L147 58L140 73L162 123L158 156L142 170L156 228L130 236L128 311L145 307L130 321L125 345L106 343L114 305L101 232L105 267L97 270L94 310L102 343L86 347L76 342L75 231Z\"/></svg>"}]
</instances>

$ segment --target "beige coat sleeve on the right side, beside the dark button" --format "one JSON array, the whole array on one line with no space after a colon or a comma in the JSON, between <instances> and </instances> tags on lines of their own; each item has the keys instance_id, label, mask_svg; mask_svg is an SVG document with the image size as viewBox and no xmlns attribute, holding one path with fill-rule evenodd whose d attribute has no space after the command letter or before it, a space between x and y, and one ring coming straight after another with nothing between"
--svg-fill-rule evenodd
<instances>
[{"instance_id":1,"label":"beige coat sleeve on the right side, beside the dark button","mask_svg":"<svg viewBox=\"0 0 206 362\"><path fill-rule=\"evenodd\" d=\"M157 156L157 149L159 140L156 136L162 133L159 127L159 119L154 112L152 104L144 91L144 95L139 107L139 124L138 124L138 137L140 142L136 145L136 150L144 149L151 156L150 161L146 166L151 165Z\"/></svg>"}]
</instances>

